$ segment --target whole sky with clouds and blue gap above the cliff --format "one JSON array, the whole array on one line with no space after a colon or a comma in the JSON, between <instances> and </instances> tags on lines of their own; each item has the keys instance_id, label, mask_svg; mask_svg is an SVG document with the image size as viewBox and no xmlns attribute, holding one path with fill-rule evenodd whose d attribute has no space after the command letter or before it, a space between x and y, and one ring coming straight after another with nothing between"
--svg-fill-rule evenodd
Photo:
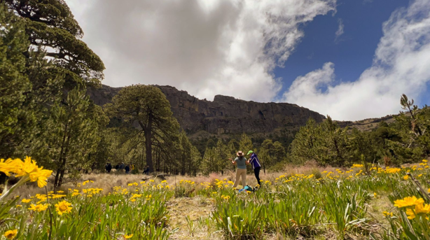
<instances>
[{"instance_id":1,"label":"whole sky with clouds and blue gap above the cliff","mask_svg":"<svg viewBox=\"0 0 430 240\"><path fill-rule=\"evenodd\" d=\"M398 113L403 93L430 105L429 0L66 2L112 87L288 102L335 120Z\"/></svg>"}]
</instances>

